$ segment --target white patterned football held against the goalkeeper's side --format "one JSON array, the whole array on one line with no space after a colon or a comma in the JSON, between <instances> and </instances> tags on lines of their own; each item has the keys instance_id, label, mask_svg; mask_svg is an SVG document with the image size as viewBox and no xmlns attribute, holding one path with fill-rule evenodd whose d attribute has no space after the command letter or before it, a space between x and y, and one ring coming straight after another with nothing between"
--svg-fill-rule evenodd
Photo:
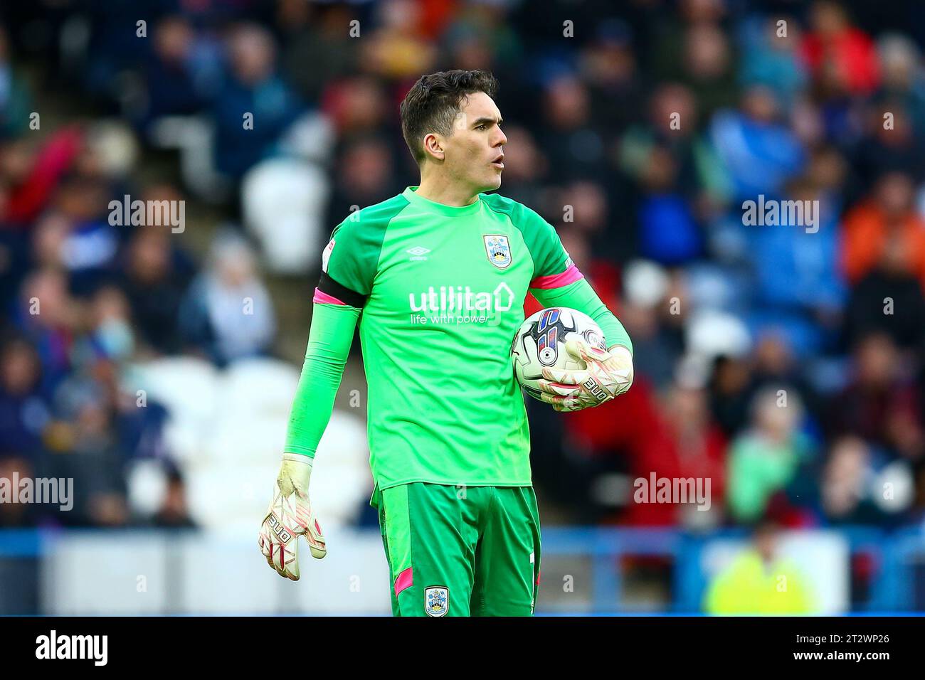
<instances>
[{"instance_id":1,"label":"white patterned football held against the goalkeeper's side","mask_svg":"<svg viewBox=\"0 0 925 680\"><path fill-rule=\"evenodd\" d=\"M579 370L585 362L565 351L565 341L584 338L592 347L606 350L604 334L590 316L569 307L548 307L524 319L511 345L514 377L527 394L540 399L537 381L544 366Z\"/></svg>"}]
</instances>

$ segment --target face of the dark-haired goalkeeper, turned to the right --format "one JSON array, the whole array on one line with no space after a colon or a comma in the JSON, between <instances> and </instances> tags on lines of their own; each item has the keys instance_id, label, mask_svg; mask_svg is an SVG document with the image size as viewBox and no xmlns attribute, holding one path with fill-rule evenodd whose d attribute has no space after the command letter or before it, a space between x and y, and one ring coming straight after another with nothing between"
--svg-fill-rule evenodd
<instances>
[{"instance_id":1,"label":"face of the dark-haired goalkeeper, turned to the right","mask_svg":"<svg viewBox=\"0 0 925 680\"><path fill-rule=\"evenodd\" d=\"M444 151L443 171L451 182L469 187L474 195L501 186L501 147L508 138L500 123L498 106L486 93L473 93L462 101L450 137L438 136Z\"/></svg>"}]
</instances>

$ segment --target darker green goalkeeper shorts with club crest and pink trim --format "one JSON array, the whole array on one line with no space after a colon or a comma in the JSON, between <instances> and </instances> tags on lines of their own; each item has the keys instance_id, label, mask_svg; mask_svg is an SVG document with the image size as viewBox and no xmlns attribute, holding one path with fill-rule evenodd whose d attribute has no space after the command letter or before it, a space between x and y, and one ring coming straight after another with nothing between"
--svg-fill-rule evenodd
<instances>
[{"instance_id":1,"label":"darker green goalkeeper shorts with club crest and pink trim","mask_svg":"<svg viewBox=\"0 0 925 680\"><path fill-rule=\"evenodd\" d=\"M539 587L532 487L415 482L373 494L395 616L530 616Z\"/></svg>"}]
</instances>

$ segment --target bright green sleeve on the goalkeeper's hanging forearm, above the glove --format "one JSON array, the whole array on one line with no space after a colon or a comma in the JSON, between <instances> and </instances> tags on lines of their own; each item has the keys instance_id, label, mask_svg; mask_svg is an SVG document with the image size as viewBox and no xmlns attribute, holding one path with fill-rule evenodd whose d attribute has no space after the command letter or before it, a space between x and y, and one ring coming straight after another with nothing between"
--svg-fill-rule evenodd
<instances>
[{"instance_id":1,"label":"bright green sleeve on the goalkeeper's hanging forearm, above the glove","mask_svg":"<svg viewBox=\"0 0 925 680\"><path fill-rule=\"evenodd\" d=\"M359 316L360 310L356 307L314 303L308 347L292 401L283 452L314 458L314 451L331 419Z\"/></svg>"}]
</instances>

